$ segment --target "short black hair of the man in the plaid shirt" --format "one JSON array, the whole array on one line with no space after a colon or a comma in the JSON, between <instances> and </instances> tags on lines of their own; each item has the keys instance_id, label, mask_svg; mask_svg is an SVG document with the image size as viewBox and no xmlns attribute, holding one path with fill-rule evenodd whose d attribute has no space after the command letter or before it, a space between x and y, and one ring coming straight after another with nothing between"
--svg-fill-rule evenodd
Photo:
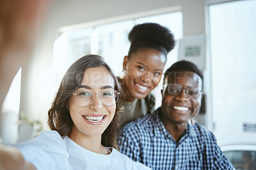
<instances>
[{"instance_id":1,"label":"short black hair of the man in the plaid shirt","mask_svg":"<svg viewBox=\"0 0 256 170\"><path fill-rule=\"evenodd\" d=\"M172 64L171 67L169 67L166 72L164 73L164 78L168 76L168 74L175 72L175 71L191 71L193 73L198 74L202 80L204 80L204 76L202 71L194 64L193 62L190 62L188 60L180 60L178 62L175 62Z\"/></svg>"}]
</instances>

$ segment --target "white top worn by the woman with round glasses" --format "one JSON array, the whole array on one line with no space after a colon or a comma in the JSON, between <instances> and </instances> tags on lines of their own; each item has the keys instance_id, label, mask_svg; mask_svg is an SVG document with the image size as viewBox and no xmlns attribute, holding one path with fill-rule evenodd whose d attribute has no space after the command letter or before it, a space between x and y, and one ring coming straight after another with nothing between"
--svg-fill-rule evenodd
<instances>
[{"instance_id":1,"label":"white top worn by the woman with round glasses","mask_svg":"<svg viewBox=\"0 0 256 170\"><path fill-rule=\"evenodd\" d=\"M15 147L38 170L150 169L140 162L133 162L115 148L111 148L109 155L90 152L67 136L61 138L56 131L44 131L37 138L15 145Z\"/></svg>"}]
</instances>

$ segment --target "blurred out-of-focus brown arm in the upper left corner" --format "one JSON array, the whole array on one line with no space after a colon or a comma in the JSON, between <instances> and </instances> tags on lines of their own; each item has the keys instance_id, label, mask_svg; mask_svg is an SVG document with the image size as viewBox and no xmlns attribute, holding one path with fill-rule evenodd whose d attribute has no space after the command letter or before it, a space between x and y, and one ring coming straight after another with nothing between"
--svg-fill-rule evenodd
<instances>
[{"instance_id":1,"label":"blurred out-of-focus brown arm in the upper left corner","mask_svg":"<svg viewBox=\"0 0 256 170\"><path fill-rule=\"evenodd\" d=\"M0 110L12 80L29 59L49 0L0 0Z\"/></svg>"}]
</instances>

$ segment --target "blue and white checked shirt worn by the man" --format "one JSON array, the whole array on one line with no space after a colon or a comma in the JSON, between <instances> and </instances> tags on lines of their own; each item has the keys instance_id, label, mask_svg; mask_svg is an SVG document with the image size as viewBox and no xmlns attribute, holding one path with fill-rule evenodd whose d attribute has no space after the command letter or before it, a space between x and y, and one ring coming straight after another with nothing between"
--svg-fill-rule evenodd
<instances>
[{"instance_id":1,"label":"blue and white checked shirt worn by the man","mask_svg":"<svg viewBox=\"0 0 256 170\"><path fill-rule=\"evenodd\" d=\"M204 126L188 124L176 143L164 128L160 111L124 126L118 138L120 152L152 169L234 169Z\"/></svg>"}]
</instances>

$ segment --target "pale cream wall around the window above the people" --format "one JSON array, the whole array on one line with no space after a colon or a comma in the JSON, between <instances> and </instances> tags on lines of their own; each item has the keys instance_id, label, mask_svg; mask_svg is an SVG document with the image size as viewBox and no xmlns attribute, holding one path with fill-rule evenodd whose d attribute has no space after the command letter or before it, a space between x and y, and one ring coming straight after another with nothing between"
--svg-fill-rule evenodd
<instances>
[{"instance_id":1,"label":"pale cream wall around the window above the people","mask_svg":"<svg viewBox=\"0 0 256 170\"><path fill-rule=\"evenodd\" d=\"M52 76L53 44L60 36L58 30L61 27L147 11L161 12L165 8L179 6L183 13L184 37L205 34L205 2L206 0L52 1L40 29L35 54L22 69L20 110L31 119L42 120L44 129L47 129L47 111L54 97L52 87L56 85L56 81L61 81L58 75Z\"/></svg>"}]
</instances>

